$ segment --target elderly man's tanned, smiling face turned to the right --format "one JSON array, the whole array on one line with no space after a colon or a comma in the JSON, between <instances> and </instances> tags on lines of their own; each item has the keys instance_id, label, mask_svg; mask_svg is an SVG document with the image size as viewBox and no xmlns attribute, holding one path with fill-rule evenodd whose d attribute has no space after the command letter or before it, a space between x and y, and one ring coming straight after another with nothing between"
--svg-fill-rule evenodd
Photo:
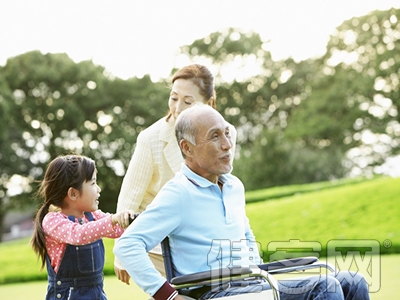
<instances>
[{"instance_id":1,"label":"elderly man's tanned, smiling face turned to the right","mask_svg":"<svg viewBox=\"0 0 400 300\"><path fill-rule=\"evenodd\" d=\"M196 145L191 145L189 167L216 183L218 176L232 170L232 140L229 124L217 112L196 118Z\"/></svg>"}]
</instances>

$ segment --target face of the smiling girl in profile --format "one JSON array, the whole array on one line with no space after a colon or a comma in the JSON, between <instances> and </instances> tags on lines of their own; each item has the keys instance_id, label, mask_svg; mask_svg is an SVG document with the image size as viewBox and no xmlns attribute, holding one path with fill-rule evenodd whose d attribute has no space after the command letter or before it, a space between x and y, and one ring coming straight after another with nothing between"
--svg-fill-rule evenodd
<instances>
[{"instance_id":1,"label":"face of the smiling girl in profile","mask_svg":"<svg viewBox=\"0 0 400 300\"><path fill-rule=\"evenodd\" d=\"M82 212L93 212L98 210L99 208L99 197L101 189L97 185L97 174L94 171L92 175L92 179L89 181L85 181L82 184L81 192L76 201L77 209Z\"/></svg>"}]
</instances>

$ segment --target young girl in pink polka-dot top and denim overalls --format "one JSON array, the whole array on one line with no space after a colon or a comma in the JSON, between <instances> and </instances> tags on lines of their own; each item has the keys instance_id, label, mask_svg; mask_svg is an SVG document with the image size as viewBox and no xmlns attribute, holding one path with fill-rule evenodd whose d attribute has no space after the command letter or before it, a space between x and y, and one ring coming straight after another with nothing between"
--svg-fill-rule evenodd
<instances>
[{"instance_id":1,"label":"young girl in pink polka-dot top and denim overalls","mask_svg":"<svg viewBox=\"0 0 400 300\"><path fill-rule=\"evenodd\" d=\"M96 173L90 158L59 156L49 163L41 182L38 195L44 202L31 243L41 269L47 267L46 299L107 299L102 238L120 237L134 212L98 209L101 189Z\"/></svg>"}]
</instances>

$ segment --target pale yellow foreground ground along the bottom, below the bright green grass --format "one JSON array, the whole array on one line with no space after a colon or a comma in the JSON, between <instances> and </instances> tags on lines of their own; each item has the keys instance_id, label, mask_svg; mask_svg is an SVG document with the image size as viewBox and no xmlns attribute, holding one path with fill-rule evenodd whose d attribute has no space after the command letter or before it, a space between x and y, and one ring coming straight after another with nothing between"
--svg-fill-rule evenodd
<instances>
[{"instance_id":1,"label":"pale yellow foreground ground along the bottom, below the bright green grass","mask_svg":"<svg viewBox=\"0 0 400 300\"><path fill-rule=\"evenodd\" d=\"M380 290L371 293L372 300L398 299L400 295L400 255L383 255L381 257L381 272L376 276L380 279ZM43 300L47 282L35 281L0 285L0 295L3 300ZM127 286L115 276L106 276L104 290L110 300L148 300L149 296L141 291L134 283Z\"/></svg>"}]
</instances>

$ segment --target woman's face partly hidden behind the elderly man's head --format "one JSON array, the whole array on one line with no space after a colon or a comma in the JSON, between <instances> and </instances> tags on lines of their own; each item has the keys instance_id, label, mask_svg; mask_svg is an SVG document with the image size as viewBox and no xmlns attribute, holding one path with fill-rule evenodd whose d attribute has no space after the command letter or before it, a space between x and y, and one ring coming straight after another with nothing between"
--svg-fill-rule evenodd
<instances>
[{"instance_id":1,"label":"woman's face partly hidden behind the elderly man's head","mask_svg":"<svg viewBox=\"0 0 400 300\"><path fill-rule=\"evenodd\" d=\"M172 86L168 106L175 121L179 114L194 102L200 101L205 103L206 100L200 95L200 89L193 81L190 79L177 79Z\"/></svg>"}]
</instances>

